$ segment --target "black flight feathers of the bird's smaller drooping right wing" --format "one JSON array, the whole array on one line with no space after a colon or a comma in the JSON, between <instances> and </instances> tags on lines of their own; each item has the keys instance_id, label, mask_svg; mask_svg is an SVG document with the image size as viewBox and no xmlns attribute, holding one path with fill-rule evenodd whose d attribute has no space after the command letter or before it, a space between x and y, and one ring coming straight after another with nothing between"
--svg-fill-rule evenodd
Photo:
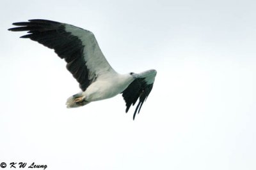
<instances>
[{"instance_id":1,"label":"black flight feathers of the bird's smaller drooping right wing","mask_svg":"<svg viewBox=\"0 0 256 170\"><path fill-rule=\"evenodd\" d=\"M140 113L141 106L147 100L148 95L150 94L154 83L147 84L145 78L137 78L132 81L132 83L127 87L127 89L122 92L122 96L125 100L126 110L125 113L129 111L129 108L134 106L138 98L140 97L139 103L136 106L136 109L133 114L133 120L135 119L136 113Z\"/></svg>"}]
</instances>

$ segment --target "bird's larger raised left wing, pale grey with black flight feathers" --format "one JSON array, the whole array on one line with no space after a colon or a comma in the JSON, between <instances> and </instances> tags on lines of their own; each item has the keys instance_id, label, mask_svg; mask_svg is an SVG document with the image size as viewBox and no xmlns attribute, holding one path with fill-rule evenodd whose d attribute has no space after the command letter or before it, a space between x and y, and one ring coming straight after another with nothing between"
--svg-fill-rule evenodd
<instances>
[{"instance_id":1,"label":"bird's larger raised left wing, pale grey with black flight feathers","mask_svg":"<svg viewBox=\"0 0 256 170\"><path fill-rule=\"evenodd\" d=\"M84 91L102 74L115 72L101 52L92 32L74 25L51 20L29 20L16 22L9 31L28 31L20 38L33 41L54 49L67 62L67 69L79 82Z\"/></svg>"}]
</instances>

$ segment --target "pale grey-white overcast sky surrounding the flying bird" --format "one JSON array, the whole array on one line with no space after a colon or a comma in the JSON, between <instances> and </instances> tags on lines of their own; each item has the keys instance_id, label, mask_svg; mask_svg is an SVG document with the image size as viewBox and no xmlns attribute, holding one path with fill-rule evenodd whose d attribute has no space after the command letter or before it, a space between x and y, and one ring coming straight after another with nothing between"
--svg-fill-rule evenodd
<instances>
[{"instance_id":1,"label":"pale grey-white overcast sky surrounding the flying bird","mask_svg":"<svg viewBox=\"0 0 256 170\"><path fill-rule=\"evenodd\" d=\"M47 169L256 169L255 1L1 1L0 162ZM92 31L119 73L156 69L141 113L122 96L65 108L65 62L12 22Z\"/></svg>"}]
</instances>

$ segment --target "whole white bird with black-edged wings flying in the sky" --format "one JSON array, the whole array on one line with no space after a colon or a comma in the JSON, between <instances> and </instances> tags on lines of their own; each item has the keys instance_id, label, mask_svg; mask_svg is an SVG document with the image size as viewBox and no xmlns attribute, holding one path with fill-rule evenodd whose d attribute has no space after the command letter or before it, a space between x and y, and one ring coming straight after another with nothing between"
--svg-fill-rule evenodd
<instances>
[{"instance_id":1,"label":"whole white bird with black-edged wings flying in the sky","mask_svg":"<svg viewBox=\"0 0 256 170\"><path fill-rule=\"evenodd\" d=\"M13 25L17 27L9 31L28 31L20 38L29 38L54 49L67 62L68 71L76 78L81 89L81 92L67 99L67 108L122 94L126 103L125 112L139 99L133 120L136 113L140 113L152 90L156 70L138 74L117 73L104 57L93 33L74 25L42 19L15 22Z\"/></svg>"}]
</instances>

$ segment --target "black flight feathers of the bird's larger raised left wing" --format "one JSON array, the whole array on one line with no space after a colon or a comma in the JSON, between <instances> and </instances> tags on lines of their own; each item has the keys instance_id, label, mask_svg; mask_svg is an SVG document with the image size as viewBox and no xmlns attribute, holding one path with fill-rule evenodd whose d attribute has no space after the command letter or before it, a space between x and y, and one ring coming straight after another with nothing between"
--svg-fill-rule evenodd
<instances>
[{"instance_id":1,"label":"black flight feathers of the bird's larger raised left wing","mask_svg":"<svg viewBox=\"0 0 256 170\"><path fill-rule=\"evenodd\" d=\"M81 39L65 31L65 25L52 20L33 19L28 22L15 22L8 31L28 31L20 38L29 38L33 41L54 49L61 59L67 62L67 69L72 73L84 91L90 85L88 80L88 69L83 59L83 48Z\"/></svg>"}]
</instances>

